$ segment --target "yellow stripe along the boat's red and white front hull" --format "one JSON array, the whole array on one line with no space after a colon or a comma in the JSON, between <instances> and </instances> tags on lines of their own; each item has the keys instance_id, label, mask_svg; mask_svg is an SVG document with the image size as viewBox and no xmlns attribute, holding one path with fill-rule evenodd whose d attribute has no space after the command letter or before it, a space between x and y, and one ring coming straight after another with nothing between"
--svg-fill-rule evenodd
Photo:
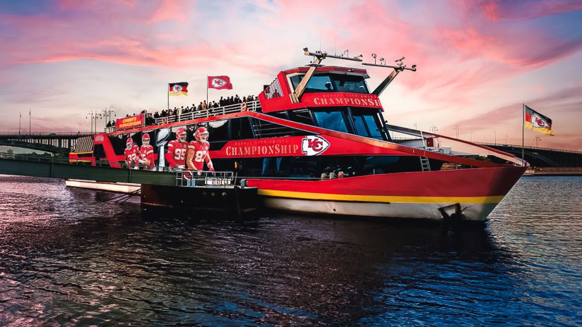
<instances>
[{"instance_id":1,"label":"yellow stripe along the boat's red and white front hull","mask_svg":"<svg viewBox=\"0 0 582 327\"><path fill-rule=\"evenodd\" d=\"M351 202L398 202L398 203L494 203L501 202L504 195L491 197L400 197L384 195L336 195L328 193L292 192L259 189L259 195L294 199L316 199Z\"/></svg>"}]
</instances>

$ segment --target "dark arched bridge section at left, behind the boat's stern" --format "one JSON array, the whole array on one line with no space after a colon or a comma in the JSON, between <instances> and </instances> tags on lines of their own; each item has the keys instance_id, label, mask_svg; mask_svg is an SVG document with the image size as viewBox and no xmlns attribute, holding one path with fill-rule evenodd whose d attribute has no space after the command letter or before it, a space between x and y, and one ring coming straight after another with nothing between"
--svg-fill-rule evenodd
<instances>
[{"instance_id":1,"label":"dark arched bridge section at left, behind the boat's stern","mask_svg":"<svg viewBox=\"0 0 582 327\"><path fill-rule=\"evenodd\" d=\"M0 132L0 145L68 156L77 139L91 132Z\"/></svg>"}]
</instances>

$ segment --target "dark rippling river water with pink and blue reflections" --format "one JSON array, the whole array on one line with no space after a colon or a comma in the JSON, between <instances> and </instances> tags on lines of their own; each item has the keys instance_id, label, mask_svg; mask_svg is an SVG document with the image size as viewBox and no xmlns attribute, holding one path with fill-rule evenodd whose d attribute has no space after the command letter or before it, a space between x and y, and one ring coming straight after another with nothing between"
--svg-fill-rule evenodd
<instances>
[{"instance_id":1,"label":"dark rippling river water with pink and blue reflections","mask_svg":"<svg viewBox=\"0 0 582 327\"><path fill-rule=\"evenodd\" d=\"M0 186L0 325L582 325L582 178L522 178L485 230L456 234Z\"/></svg>"}]
</instances>

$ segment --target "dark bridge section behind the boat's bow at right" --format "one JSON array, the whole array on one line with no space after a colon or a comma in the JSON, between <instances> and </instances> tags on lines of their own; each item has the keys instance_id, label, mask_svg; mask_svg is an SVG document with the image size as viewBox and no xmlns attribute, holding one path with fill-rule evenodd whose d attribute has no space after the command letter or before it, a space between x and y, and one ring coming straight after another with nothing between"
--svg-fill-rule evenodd
<instances>
[{"instance_id":1,"label":"dark bridge section behind the boat's bow at right","mask_svg":"<svg viewBox=\"0 0 582 327\"><path fill-rule=\"evenodd\" d=\"M483 142L477 143L513 154L518 158L521 158L521 145ZM525 161L528 161L533 167L582 167L582 152L579 151L550 149L545 147L524 147L523 150Z\"/></svg>"}]
</instances>

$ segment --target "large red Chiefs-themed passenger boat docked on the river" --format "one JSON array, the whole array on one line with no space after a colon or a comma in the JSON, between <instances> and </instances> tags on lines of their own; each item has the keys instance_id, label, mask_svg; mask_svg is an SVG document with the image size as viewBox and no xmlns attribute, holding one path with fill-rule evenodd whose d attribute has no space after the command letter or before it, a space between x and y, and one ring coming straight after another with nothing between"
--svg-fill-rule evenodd
<instances>
[{"instance_id":1,"label":"large red Chiefs-themed passenger boat docked on the river","mask_svg":"<svg viewBox=\"0 0 582 327\"><path fill-rule=\"evenodd\" d=\"M84 140L71 163L124 167L126 139L155 140L155 171L167 170L165 144L179 128L187 140L206 127L216 171L256 187L271 209L336 216L486 221L528 164L484 145L386 120L380 94L404 71L404 58L363 63L325 52L304 54L307 66L280 71L257 99L156 118L143 116ZM324 60L390 69L374 90L366 67L324 66ZM352 65L353 66L353 65ZM389 119L389 118L388 118ZM127 123L127 122L130 123ZM121 127L120 127L121 126ZM153 172L155 173L155 172Z\"/></svg>"}]
</instances>

